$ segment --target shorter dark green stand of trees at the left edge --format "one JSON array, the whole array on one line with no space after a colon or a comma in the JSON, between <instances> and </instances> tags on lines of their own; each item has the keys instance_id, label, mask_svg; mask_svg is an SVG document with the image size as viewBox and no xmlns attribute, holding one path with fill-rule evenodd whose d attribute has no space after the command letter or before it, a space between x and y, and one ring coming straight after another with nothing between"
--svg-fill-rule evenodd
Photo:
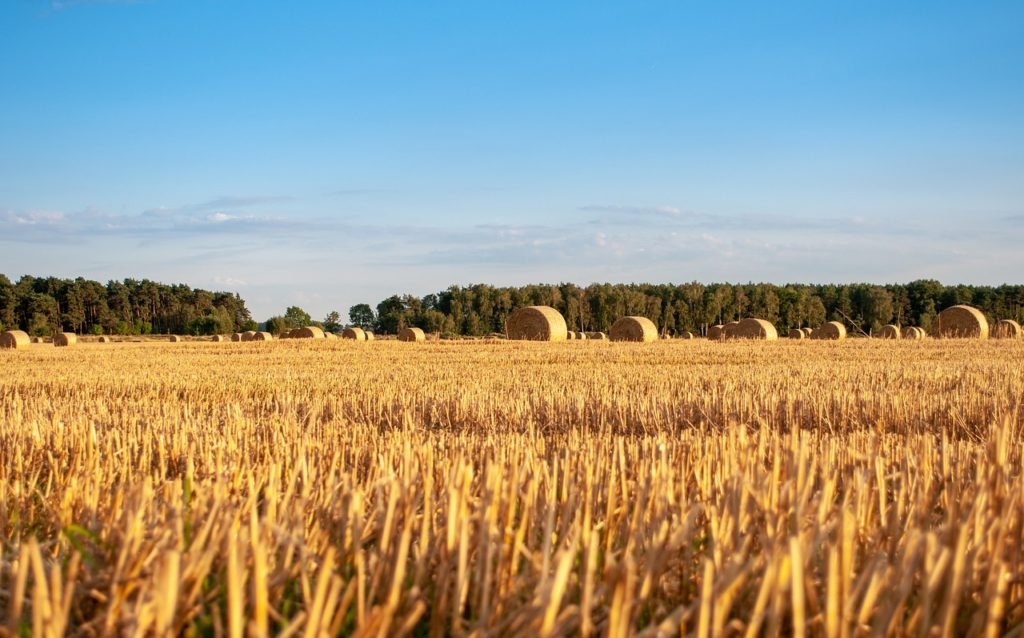
<instances>
[{"instance_id":1,"label":"shorter dark green stand of trees at the left edge","mask_svg":"<svg viewBox=\"0 0 1024 638\"><path fill-rule=\"evenodd\" d=\"M31 335L68 331L94 335L213 335L256 323L236 293L209 292L148 280L109 282L0 274L0 330Z\"/></svg>"}]
</instances>

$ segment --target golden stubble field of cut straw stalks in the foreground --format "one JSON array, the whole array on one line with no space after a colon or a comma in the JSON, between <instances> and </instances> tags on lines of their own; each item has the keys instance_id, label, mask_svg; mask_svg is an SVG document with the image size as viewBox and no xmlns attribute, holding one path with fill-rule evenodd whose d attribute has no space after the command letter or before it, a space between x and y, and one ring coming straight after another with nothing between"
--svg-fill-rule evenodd
<instances>
[{"instance_id":1,"label":"golden stubble field of cut straw stalks in the foreground","mask_svg":"<svg viewBox=\"0 0 1024 638\"><path fill-rule=\"evenodd\" d=\"M0 634L1024 631L1024 342L87 343L0 370Z\"/></svg>"}]
</instances>

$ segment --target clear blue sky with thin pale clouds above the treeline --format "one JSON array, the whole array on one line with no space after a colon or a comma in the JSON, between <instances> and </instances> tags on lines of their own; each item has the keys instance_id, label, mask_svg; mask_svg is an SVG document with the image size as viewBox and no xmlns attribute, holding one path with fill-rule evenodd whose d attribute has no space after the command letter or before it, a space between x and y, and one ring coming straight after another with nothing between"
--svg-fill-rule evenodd
<instances>
[{"instance_id":1,"label":"clear blue sky with thin pale clouds above the treeline","mask_svg":"<svg viewBox=\"0 0 1024 638\"><path fill-rule=\"evenodd\" d=\"M0 2L0 272L257 318L537 282L1020 283L1021 2Z\"/></svg>"}]
</instances>

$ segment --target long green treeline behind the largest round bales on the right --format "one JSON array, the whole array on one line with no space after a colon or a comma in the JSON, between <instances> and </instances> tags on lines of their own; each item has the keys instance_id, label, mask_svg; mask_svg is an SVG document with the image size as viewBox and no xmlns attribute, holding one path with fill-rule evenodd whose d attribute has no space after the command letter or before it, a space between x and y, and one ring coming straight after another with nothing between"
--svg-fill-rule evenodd
<instances>
[{"instance_id":1,"label":"long green treeline behind the largest round bales on the right","mask_svg":"<svg viewBox=\"0 0 1024 638\"><path fill-rule=\"evenodd\" d=\"M928 330L945 307L967 303L989 321L1024 321L1024 286L943 286L924 280L877 286L772 284L572 284L495 288L452 287L423 298L393 296L349 310L352 324L394 334L404 326L449 335L486 335L505 330L505 317L522 305L550 305L570 330L607 331L618 317L640 314L666 334L702 334L708 326L746 316L765 318L780 331L840 321L853 334L895 323Z\"/></svg>"}]
</instances>

